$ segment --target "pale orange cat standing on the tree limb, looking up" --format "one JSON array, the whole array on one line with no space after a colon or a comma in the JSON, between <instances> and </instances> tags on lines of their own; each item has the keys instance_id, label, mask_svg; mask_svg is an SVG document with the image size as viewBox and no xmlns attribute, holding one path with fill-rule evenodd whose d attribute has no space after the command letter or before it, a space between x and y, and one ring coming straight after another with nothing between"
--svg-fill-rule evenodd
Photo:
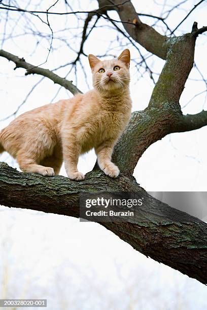
<instances>
[{"instance_id":1,"label":"pale orange cat standing on the tree limb, looking up","mask_svg":"<svg viewBox=\"0 0 207 310\"><path fill-rule=\"evenodd\" d=\"M25 112L0 132L0 153L10 153L23 172L58 175L64 161L67 176L83 180L79 156L94 148L100 169L119 175L111 157L131 115L130 52L103 61L89 54L88 60L92 90Z\"/></svg>"}]
</instances>

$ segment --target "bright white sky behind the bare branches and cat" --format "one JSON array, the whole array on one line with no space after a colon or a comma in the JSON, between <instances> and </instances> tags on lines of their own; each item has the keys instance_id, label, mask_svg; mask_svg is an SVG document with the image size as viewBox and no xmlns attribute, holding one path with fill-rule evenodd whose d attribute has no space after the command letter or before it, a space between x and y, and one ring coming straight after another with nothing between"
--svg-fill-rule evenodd
<instances>
[{"instance_id":1,"label":"bright white sky behind the bare branches and cat","mask_svg":"<svg viewBox=\"0 0 207 310\"><path fill-rule=\"evenodd\" d=\"M76 9L75 7L78 6L78 3L75 1L71 3L73 4L73 8ZM160 15L161 7L155 5L153 1L132 1L132 3L136 10L141 13ZM159 1L159 3L163 3L163 1ZM178 1L168 1L167 3L176 4ZM45 8L48 8L50 5L51 1L44 1L42 3L42 7ZM189 10L193 5L194 1L188 1L183 8ZM19 6L23 7L24 2L19 1ZM82 10L88 10L88 8L92 10L97 7L97 4L96 1L90 2L90 4L89 1L84 1L81 2L81 6ZM58 7L58 10L60 11L63 9L63 5ZM55 8L54 11L57 11L57 8ZM19 13L12 14L13 17L19 16ZM114 18L118 18L116 13L111 12L110 15ZM182 20L185 15L186 12L184 10L172 14L172 17L169 20L170 27L173 29L178 24L178 21ZM151 22L148 18L143 18L142 20ZM206 24L206 4L203 4L193 12L187 21L183 23L180 30L186 32L191 31L194 21L197 21L200 27ZM35 22L39 29L48 32L46 26L37 22L37 20ZM100 25L101 23L106 24L107 22L100 21ZM55 29L64 28L64 23L57 16L50 17L50 24ZM76 19L71 15L69 26L74 26L75 24ZM8 26L9 29L11 29L11 27L12 25ZM18 31L23 31L23 26L22 29L16 30L17 33ZM179 33L180 32L177 31L177 35ZM72 44L73 49L78 50L79 40L74 40L72 34L73 33L69 32L66 39ZM85 53L92 53L94 55L105 53L108 42L110 40L115 40L115 35L116 33L113 30L107 28L95 29L91 33L89 40L84 47ZM196 42L195 62L206 78L207 64L205 61L205 44L206 36L200 35ZM36 52L34 52L35 46L36 40L34 40L32 36L25 35L23 37L20 36L15 40L5 41L3 49L20 57L24 57L26 61L32 64L38 65L44 62L47 57L48 42L43 40L38 46ZM69 52L68 49L62 47L56 41L54 41L54 47L57 49L50 54L48 62L44 67L49 69L55 68L60 64L70 62L75 58L73 52ZM117 55L119 54L119 51L120 47L118 43L114 42L114 44L112 44L111 53ZM132 58L137 58L139 56L134 48L130 48L130 51ZM83 58L82 61L86 68L88 83L91 87L91 76L87 59ZM153 61L154 70L160 72L164 62L156 57L154 57ZM0 58L0 119L4 119L7 115L13 113L17 106L24 100L32 85L40 80L40 77L35 75L25 77L25 71L23 69L13 71L13 68L14 64L12 62ZM67 70L68 68L63 68L58 71L58 74L64 76L67 73ZM131 96L133 110L141 110L148 105L153 89L153 83L149 79L148 74L144 74L144 78L139 78L137 81L138 76L139 74L137 74L134 64L132 64ZM75 83L74 71L72 71L67 78L68 80L73 80ZM200 79L200 76L194 69L190 74L190 79L186 83L185 91L181 98L182 106L184 106L194 95L205 90L203 82L193 81L193 79ZM88 89L80 66L78 67L77 86L83 91L87 91ZM54 85L53 82L44 79L31 96L29 96L26 104L22 106L18 114L50 102L58 89L59 87ZM55 101L67 98L68 96L71 95L61 89L57 94ZM203 108L206 109L204 99L205 94L195 97L187 107L183 109L183 112L197 113ZM11 120L12 118L9 121L0 122L0 129L5 127ZM134 176L136 177L137 182L149 191L206 191L206 134L207 127L188 133L171 134L163 138L161 141L151 145L146 150L134 170ZM1 161L7 161L10 165L16 167L15 162L12 162L6 153L1 157ZM80 159L80 171L84 173L90 171L94 162L94 152L91 151ZM64 169L61 170L61 174L65 175ZM149 270L150 272L156 270L156 275L153 276L152 279L153 281L157 279L156 277L162 279L164 283L163 285L160 284L160 280L156 281L156 285L160 285L161 289L163 289L165 285L169 285L171 281L173 282L174 280L172 278L174 277L178 277L179 283L187 281L187 283L193 285L196 296L199 297L196 301L197 303L193 300L196 308L204 308L204 305L207 307L204 300L207 291L203 285L195 280L188 279L186 276L181 275L179 272L176 272L169 267L158 264L151 259L147 259L142 254L134 251L129 245L121 241L110 231L107 231L96 223L80 223L77 219L42 213L41 216L38 216L35 212L9 208L3 208L0 214L2 215L1 229L3 229L1 236L7 235L8 225L11 224L11 244L13 243L16 247L14 253L17 253L19 249L16 257L12 256L14 254L11 254L11 257L13 257L12 259L16 259L17 265L22 259L24 261L24 269L29 270L31 268L33 272L32 277L41 277L41 281L45 283L45 285L50 281L50 277L53 275L53 268L57 265L61 265L63 261L68 259L71 264L76 264L81 270L84 266L87 266L89 269L93 268L100 283L102 283L104 279L110 279L112 283L113 281L116 283L116 276L112 277L110 272L113 272L115 262L118 262L118 264L124 266L127 264L128 273L134 267L136 267L137 273L141 272L142 268L146 269L146 273L149 272ZM44 235L44 238L42 238L42 235ZM32 245L35 245L36 248L39 248L40 246L38 255L40 255L41 259L38 264ZM26 247L26 250L23 252L24 255L22 255L22 249L24 247ZM41 268L43 270L48 270L48 272L45 272L45 276L40 276ZM60 278L63 277L62 273L63 272L60 271ZM167 275L167 277L165 278L164 275ZM127 279L127 277L125 279ZM189 298L193 298L192 296L189 296Z\"/></svg>"}]
</instances>

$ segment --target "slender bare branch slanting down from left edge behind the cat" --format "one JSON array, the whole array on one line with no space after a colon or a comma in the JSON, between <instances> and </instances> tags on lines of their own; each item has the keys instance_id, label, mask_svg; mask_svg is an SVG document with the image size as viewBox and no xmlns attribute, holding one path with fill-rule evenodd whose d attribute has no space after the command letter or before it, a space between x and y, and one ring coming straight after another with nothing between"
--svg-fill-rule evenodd
<instances>
[{"instance_id":1,"label":"slender bare branch slanting down from left edge behind the cat","mask_svg":"<svg viewBox=\"0 0 207 310\"><path fill-rule=\"evenodd\" d=\"M34 66L24 60L24 58L19 58L9 52L0 50L0 56L7 58L8 60L13 61L16 64L16 68L26 69L25 75L28 74L40 74L46 76L46 78L52 80L55 84L63 86L65 89L70 91L72 94L81 93L81 91L71 82L66 79L60 78L59 75L53 73L52 71L38 66Z\"/></svg>"}]
</instances>

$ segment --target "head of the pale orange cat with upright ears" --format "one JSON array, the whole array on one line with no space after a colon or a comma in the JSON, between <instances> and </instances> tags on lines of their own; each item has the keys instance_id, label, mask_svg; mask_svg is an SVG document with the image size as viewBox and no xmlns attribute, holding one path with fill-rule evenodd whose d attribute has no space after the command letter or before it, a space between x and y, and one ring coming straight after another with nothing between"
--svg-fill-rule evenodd
<instances>
[{"instance_id":1,"label":"head of the pale orange cat with upright ears","mask_svg":"<svg viewBox=\"0 0 207 310\"><path fill-rule=\"evenodd\" d=\"M93 79L93 87L99 92L119 92L127 89L130 82L130 52L124 50L118 58L101 61L88 55Z\"/></svg>"}]
</instances>

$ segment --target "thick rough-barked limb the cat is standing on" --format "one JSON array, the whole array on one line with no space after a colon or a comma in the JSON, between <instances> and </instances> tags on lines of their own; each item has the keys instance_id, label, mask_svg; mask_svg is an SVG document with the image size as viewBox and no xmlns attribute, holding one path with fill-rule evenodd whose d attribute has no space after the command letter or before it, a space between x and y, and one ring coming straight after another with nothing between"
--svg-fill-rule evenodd
<instances>
[{"instance_id":1,"label":"thick rough-barked limb the cat is standing on","mask_svg":"<svg viewBox=\"0 0 207 310\"><path fill-rule=\"evenodd\" d=\"M133 177L100 171L81 182L24 174L0 163L0 204L79 217L80 192L136 191L149 199L127 222L101 223L135 250L207 284L207 224L149 196Z\"/></svg>"}]
</instances>

